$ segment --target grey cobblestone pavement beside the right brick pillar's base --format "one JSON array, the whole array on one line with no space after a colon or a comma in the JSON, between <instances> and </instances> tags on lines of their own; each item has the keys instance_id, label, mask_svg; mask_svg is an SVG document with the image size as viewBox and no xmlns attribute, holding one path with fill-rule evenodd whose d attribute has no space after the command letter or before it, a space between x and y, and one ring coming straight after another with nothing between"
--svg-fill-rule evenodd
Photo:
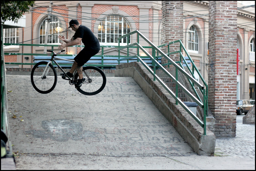
<instances>
[{"instance_id":1,"label":"grey cobblestone pavement beside the right brick pillar's base","mask_svg":"<svg viewBox=\"0 0 256 171\"><path fill-rule=\"evenodd\" d=\"M255 124L243 124L244 115L237 115L234 138L216 138L215 155L255 158Z\"/></svg>"}]
</instances>

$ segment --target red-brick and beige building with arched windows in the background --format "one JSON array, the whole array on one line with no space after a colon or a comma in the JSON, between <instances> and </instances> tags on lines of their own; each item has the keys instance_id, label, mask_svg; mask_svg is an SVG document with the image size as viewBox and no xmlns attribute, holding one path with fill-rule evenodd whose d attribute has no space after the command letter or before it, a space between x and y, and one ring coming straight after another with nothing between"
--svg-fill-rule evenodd
<instances>
[{"instance_id":1,"label":"red-brick and beige building with arched windows in the background","mask_svg":"<svg viewBox=\"0 0 256 171\"><path fill-rule=\"evenodd\" d=\"M71 19L78 19L98 37L101 45L118 45L117 38L139 30L155 45L161 45L161 1L36 1L26 13L26 27L4 29L4 43L60 44L57 36L71 38ZM51 8L49 8L51 7ZM183 44L208 81L209 1L183 1ZM49 28L47 29L47 22ZM255 99L255 6L237 4L237 99ZM166 33L169 34L169 33ZM136 36L121 45L136 42ZM140 41L143 46L148 46ZM55 47L57 51L57 47ZM68 47L67 54L77 54L79 47ZM45 53L42 46L4 47L5 53ZM117 48L104 48L105 54L118 55ZM123 52L126 53L125 51ZM136 50L130 53L136 53ZM140 55L144 55L140 52ZM29 55L5 55L5 62L33 63ZM31 67L31 65L6 65Z\"/></svg>"}]
</instances>

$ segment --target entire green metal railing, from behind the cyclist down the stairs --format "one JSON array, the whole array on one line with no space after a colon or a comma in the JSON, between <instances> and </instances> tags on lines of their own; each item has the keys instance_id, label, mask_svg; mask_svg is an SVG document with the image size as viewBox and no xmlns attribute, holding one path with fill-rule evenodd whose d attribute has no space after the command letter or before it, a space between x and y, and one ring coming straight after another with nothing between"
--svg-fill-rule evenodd
<instances>
[{"instance_id":1,"label":"entire green metal railing, from behind the cyclist down the stairs","mask_svg":"<svg viewBox=\"0 0 256 171\"><path fill-rule=\"evenodd\" d=\"M137 34L137 42L136 43L132 43L129 44L127 43L126 46L120 46L120 40L127 37L127 42L129 42L129 36L132 34ZM141 46L139 44L139 38L143 38L150 46ZM119 45L118 46L101 46L101 54L100 55L94 55L94 57L101 57L101 64L85 64L86 65L91 65L91 66L98 66L101 67L101 69L103 69L103 67L115 67L115 65L109 65L109 64L104 64L103 59L105 57L116 57L118 58L118 64L120 64L121 60L127 60L127 62L129 62L129 60L136 58L138 62L141 62L146 68L147 70L149 70L151 72L151 74L154 76L154 80L158 80L162 86L175 98L176 100L176 104L180 104L196 121L197 123L204 128L204 134L206 135L206 115L207 115L207 107L208 107L208 86L206 84L206 82L204 81L203 77L201 76L200 72L198 71L196 65L194 64L193 60L191 59L191 57L189 56L189 54L187 53L186 49L184 48L182 42L180 40L174 41L174 42L170 42L170 43L166 43L164 45L160 45L160 46L155 46L152 42L150 42L144 35L142 35L139 31L133 31L131 33L128 33L124 36L121 36L120 38L118 38L119 40ZM180 50L179 51L175 51L175 52L169 52L169 45L174 44L174 43L180 43ZM4 45L19 45L19 46L49 46L51 47L51 50L54 50L54 47L58 47L58 45L42 45L42 44L11 44L11 43L5 43ZM163 46L168 46L168 53L165 54L164 52L162 52L159 48L163 47ZM83 45L75 45L72 47L84 47ZM118 55L104 55L104 49L105 48L117 48L118 50ZM127 48L127 55L120 55L120 50ZM129 56L129 48L136 48L136 52L137 55L133 55L133 56ZM152 54L149 54L145 49L148 48L150 49ZM146 56L140 56L139 55L139 49L141 49ZM185 54L188 56L191 64L192 64L192 70L190 69L190 67L188 66L188 63L186 61L186 59L184 59L184 56L182 54L182 50L184 50ZM2 51L3 52L3 51ZM171 54L175 54L178 53L180 55L180 61L178 62L174 62L172 59L169 58L168 55ZM38 54L38 53L4 53L4 55L31 55L31 56L51 56L51 54ZM76 56L76 55L68 55L68 54L62 54L61 56ZM158 58L160 57L164 57L165 59L168 60L167 64L164 65L173 65L176 68L176 76L173 77L164 67L163 65L161 65L160 63L158 63ZM153 66L153 71L151 70L151 68L144 62L143 59L151 59L152 60L152 66ZM182 60L185 62L186 67L188 68L189 72L191 75L189 75L183 65L182 65ZM6 62L6 65L35 65L35 63L18 63L18 62ZM178 65L179 64L179 65ZM54 64L55 65L55 64ZM71 66L72 63L70 64L66 64L67 66ZM174 94L168 87L166 87L166 84L155 74L156 72L156 68L160 68L163 70L163 72L169 76L170 78L172 78L175 83L176 83L176 93ZM189 80L189 83L191 85L191 87L194 90L194 93L196 94L196 96L194 96L190 91L188 91L182 84L179 83L178 81L178 70L180 72L182 72ZM197 72L201 81L203 82L204 86L202 86L196 79L194 76L194 72ZM201 99L200 96L198 95L195 85L199 88L200 92L203 95L203 98ZM182 102L180 101L180 99L178 98L178 88L180 87L186 94L189 95L189 97L194 100L202 109L204 109L204 119L203 122L197 117L195 116L190 109ZM204 88L205 87L205 88Z\"/></svg>"}]
</instances>

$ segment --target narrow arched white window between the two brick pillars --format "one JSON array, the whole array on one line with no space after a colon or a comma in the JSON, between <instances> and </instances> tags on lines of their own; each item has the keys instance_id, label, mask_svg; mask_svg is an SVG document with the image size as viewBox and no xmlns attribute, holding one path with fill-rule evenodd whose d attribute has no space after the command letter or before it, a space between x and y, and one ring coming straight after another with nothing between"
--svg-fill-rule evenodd
<instances>
[{"instance_id":1,"label":"narrow arched white window between the two brick pillars","mask_svg":"<svg viewBox=\"0 0 256 171\"><path fill-rule=\"evenodd\" d=\"M188 30L188 50L198 53L198 34L194 26Z\"/></svg>"}]
</instances>

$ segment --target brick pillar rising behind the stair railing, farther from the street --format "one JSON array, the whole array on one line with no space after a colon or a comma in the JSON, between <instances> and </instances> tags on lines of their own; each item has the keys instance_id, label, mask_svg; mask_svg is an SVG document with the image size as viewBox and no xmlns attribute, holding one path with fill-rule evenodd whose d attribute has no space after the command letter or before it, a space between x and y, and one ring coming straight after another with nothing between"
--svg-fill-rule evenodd
<instances>
[{"instance_id":1,"label":"brick pillar rising behind the stair railing, farther from the street","mask_svg":"<svg viewBox=\"0 0 256 171\"><path fill-rule=\"evenodd\" d=\"M183 1L162 1L162 40L161 44L175 40L183 42ZM178 51L179 43L170 45L170 52ZM167 47L162 47L162 51L167 53ZM178 61L179 54L169 56L172 60ZM162 64L167 63L162 58Z\"/></svg>"}]
</instances>

